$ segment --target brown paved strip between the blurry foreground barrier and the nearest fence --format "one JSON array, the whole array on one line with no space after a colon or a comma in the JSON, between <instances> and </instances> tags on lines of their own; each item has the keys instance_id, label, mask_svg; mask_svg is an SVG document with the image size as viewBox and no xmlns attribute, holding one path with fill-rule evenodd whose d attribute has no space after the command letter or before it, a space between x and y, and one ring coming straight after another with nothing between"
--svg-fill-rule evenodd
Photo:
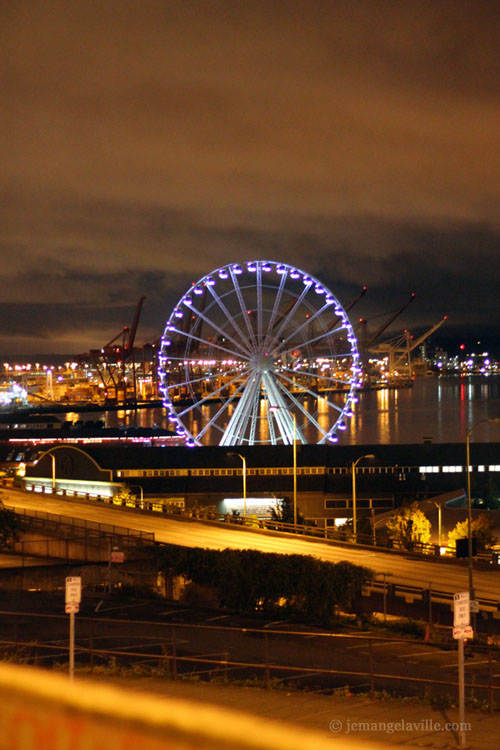
<instances>
[{"instance_id":1,"label":"brown paved strip between the blurry foreground barrier and the nearest fence","mask_svg":"<svg viewBox=\"0 0 500 750\"><path fill-rule=\"evenodd\" d=\"M92 677L95 679L95 676ZM332 738L339 747L347 738L360 744L377 742L387 747L454 748L458 734L449 723L458 722L458 710L427 704L367 697L266 691L255 687L173 682L150 678L118 678L113 684L166 696L215 703L253 715L313 729ZM499 750L500 715L467 710L467 747ZM359 724L362 723L362 726ZM330 728L331 727L331 728ZM336 743L334 745L333 743ZM368 750L368 748L367 748Z\"/></svg>"}]
</instances>

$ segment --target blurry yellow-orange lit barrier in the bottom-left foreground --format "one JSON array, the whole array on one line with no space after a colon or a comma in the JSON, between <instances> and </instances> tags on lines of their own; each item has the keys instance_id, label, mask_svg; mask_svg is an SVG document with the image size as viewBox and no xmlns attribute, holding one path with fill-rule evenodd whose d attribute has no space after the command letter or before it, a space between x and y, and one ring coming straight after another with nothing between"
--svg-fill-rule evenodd
<instances>
[{"instance_id":1,"label":"blurry yellow-orange lit barrier in the bottom-left foreground","mask_svg":"<svg viewBox=\"0 0 500 750\"><path fill-rule=\"evenodd\" d=\"M206 703L0 664L0 750L332 750L332 741ZM342 736L340 745L361 743Z\"/></svg>"}]
</instances>

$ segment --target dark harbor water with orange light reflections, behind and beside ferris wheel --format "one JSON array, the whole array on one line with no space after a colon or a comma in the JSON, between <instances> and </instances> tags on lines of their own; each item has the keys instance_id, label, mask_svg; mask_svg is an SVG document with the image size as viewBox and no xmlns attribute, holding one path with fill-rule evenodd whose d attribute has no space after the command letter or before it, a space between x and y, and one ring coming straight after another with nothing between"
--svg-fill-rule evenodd
<instances>
[{"instance_id":1,"label":"dark harbor water with orange light reflections, behind and beside ferris wheel","mask_svg":"<svg viewBox=\"0 0 500 750\"><path fill-rule=\"evenodd\" d=\"M349 429L339 433L340 443L421 443L423 437L432 438L435 443L462 442L471 425L482 419L500 417L500 378L422 378L414 382L413 388L366 391L358 397L359 402L353 404L353 417L348 420ZM220 406L204 405L202 417L192 419L194 429L199 431ZM228 409L228 420L233 408L231 405ZM265 414L265 408L262 402L261 415ZM72 412L71 417L66 415L66 418L74 420L76 416ZM78 417L104 419L108 427L168 426L164 409L94 412ZM327 417L326 405L320 399L318 421L324 428L328 427ZM311 431L304 430L304 434L306 439L314 439ZM220 439L220 432L216 430L209 435L214 442ZM259 420L257 435L260 440L266 437L264 419ZM472 440L500 442L500 425L478 424Z\"/></svg>"}]
</instances>

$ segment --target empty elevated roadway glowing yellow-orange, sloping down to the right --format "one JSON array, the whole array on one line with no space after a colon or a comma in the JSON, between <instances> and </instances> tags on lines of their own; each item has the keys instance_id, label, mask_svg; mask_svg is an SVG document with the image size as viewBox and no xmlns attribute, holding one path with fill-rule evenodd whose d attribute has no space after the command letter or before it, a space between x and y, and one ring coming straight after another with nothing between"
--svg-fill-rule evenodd
<instances>
[{"instance_id":1,"label":"empty elevated roadway glowing yellow-orange, sloping down to the right","mask_svg":"<svg viewBox=\"0 0 500 750\"><path fill-rule=\"evenodd\" d=\"M321 541L268 535L265 532L221 528L196 521L176 520L103 505L79 504L54 499L47 495L32 495L10 489L4 490L3 500L6 505L114 524L137 531L153 532L158 542L179 544L184 547L210 549L231 547L256 549L261 552L314 555L330 562L346 560L357 565L366 565L378 575L386 573L389 582L406 583L421 588L428 588L430 583L434 590L448 593L468 589L468 571L465 564L432 562L406 557L404 554L342 547ZM500 600L500 572L498 570L475 570L474 586L478 598Z\"/></svg>"}]
</instances>

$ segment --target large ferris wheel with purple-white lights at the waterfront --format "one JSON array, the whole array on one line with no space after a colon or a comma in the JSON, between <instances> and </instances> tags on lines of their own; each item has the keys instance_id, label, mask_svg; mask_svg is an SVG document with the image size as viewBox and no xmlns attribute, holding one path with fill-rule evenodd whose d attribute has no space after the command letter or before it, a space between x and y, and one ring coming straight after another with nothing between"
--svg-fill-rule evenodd
<instances>
[{"instance_id":1,"label":"large ferris wheel with purple-white lights at the waterfront","mask_svg":"<svg viewBox=\"0 0 500 750\"><path fill-rule=\"evenodd\" d=\"M346 312L318 279L275 261L232 263L181 297L159 380L187 445L337 442L361 368Z\"/></svg>"}]
</instances>

